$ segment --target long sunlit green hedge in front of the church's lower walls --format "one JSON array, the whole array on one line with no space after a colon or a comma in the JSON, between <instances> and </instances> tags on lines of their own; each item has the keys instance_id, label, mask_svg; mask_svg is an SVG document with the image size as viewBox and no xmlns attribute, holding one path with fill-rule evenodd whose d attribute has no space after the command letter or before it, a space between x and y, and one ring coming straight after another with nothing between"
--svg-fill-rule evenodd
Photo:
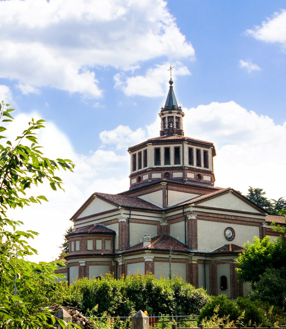
<instances>
[{"instance_id":1,"label":"long sunlit green hedge in front of the church's lower walls","mask_svg":"<svg viewBox=\"0 0 286 329\"><path fill-rule=\"evenodd\" d=\"M77 296L76 298L72 296ZM81 279L70 285L63 304L77 306L83 313L98 304L98 313L132 316L138 310L149 314L198 314L210 297L204 289L195 289L177 277L155 279L153 274L130 275L116 280Z\"/></svg>"}]
</instances>

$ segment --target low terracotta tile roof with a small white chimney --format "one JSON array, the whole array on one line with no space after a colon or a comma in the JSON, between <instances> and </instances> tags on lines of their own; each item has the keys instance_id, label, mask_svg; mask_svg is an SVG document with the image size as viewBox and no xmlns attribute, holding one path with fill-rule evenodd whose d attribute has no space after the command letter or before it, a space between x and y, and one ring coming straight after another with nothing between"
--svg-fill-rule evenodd
<instances>
[{"instance_id":1,"label":"low terracotta tile roof with a small white chimney","mask_svg":"<svg viewBox=\"0 0 286 329\"><path fill-rule=\"evenodd\" d=\"M151 243L143 248L143 242L140 242L126 250L125 252L137 251L137 250L170 250L172 247L172 251L183 251L190 252L190 250L179 240L171 237L169 234L162 233L160 235L155 236L151 239Z\"/></svg>"}]
</instances>

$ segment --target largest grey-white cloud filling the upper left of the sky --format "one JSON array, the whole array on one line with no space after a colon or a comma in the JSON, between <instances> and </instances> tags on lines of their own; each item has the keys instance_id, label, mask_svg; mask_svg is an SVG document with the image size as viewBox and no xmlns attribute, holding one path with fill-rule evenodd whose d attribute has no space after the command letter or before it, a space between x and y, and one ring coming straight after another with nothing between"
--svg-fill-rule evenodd
<instances>
[{"instance_id":1,"label":"largest grey-white cloud filling the upper left of the sky","mask_svg":"<svg viewBox=\"0 0 286 329\"><path fill-rule=\"evenodd\" d=\"M100 67L194 57L163 0L12 0L0 11L0 77L23 93L47 86L98 98Z\"/></svg>"}]
</instances>

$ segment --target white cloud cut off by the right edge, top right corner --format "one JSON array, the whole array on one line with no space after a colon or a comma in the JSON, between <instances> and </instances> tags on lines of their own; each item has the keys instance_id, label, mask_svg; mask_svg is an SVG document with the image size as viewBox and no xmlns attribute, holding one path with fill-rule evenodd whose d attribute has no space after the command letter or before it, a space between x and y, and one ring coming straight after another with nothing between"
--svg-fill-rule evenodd
<instances>
[{"instance_id":1,"label":"white cloud cut off by the right edge, top right corner","mask_svg":"<svg viewBox=\"0 0 286 329\"><path fill-rule=\"evenodd\" d=\"M272 18L263 21L261 26L254 26L246 33L257 40L264 42L278 42L286 47L286 10L274 13Z\"/></svg>"}]
</instances>

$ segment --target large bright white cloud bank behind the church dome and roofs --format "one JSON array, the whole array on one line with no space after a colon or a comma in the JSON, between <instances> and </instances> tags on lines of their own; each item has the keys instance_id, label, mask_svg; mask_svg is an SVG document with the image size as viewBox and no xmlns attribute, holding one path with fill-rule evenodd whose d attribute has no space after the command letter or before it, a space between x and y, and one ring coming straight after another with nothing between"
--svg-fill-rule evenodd
<instances>
[{"instance_id":1,"label":"large bright white cloud bank behind the church dome and roofs","mask_svg":"<svg viewBox=\"0 0 286 329\"><path fill-rule=\"evenodd\" d=\"M183 109L185 136L214 142L216 186L232 187L243 193L248 186L263 188L269 198L285 195L286 122L275 125L268 116L259 116L235 102L200 105ZM33 114L20 114L13 123L17 135ZM38 231L40 236L30 243L39 251L36 261L51 261L59 254L62 235L72 222L69 218L95 191L117 193L129 188L130 155L123 148L148 137L158 135L159 118L145 129L132 131L128 126L118 126L100 135L103 143L89 155L76 154L66 136L52 123L39 136L44 153L50 158L70 158L75 172L60 172L66 190L52 191L48 184L40 185L32 194L44 194L50 202L11 211L11 218L22 220L23 229ZM12 128L12 125L11 125ZM16 131L17 132L16 132ZM7 131L9 132L9 130ZM110 148L109 150L107 148ZM47 248L49 246L49 248Z\"/></svg>"}]
</instances>

